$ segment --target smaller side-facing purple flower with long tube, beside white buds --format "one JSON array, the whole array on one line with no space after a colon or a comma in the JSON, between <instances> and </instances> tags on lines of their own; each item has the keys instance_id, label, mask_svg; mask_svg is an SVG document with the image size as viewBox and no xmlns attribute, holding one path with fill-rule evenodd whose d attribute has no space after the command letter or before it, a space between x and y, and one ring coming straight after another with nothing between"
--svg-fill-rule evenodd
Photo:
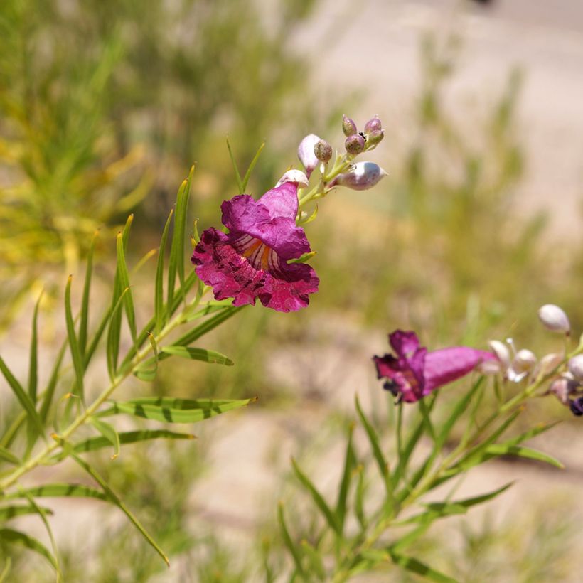
<instances>
[{"instance_id":1,"label":"smaller side-facing purple flower with long tube, beside white buds","mask_svg":"<svg viewBox=\"0 0 583 583\"><path fill-rule=\"evenodd\" d=\"M416 333L402 330L389 334L389 343L395 355L373 357L378 378L386 378L385 388L408 403L471 373L485 360L496 359L490 352L468 346L428 352L419 346Z\"/></svg>"}]
</instances>

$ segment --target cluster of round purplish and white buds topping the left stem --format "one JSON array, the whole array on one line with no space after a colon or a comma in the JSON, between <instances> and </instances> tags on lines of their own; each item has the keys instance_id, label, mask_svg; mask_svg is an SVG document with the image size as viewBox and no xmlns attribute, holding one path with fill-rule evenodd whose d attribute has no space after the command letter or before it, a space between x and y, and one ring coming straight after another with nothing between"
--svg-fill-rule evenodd
<instances>
[{"instance_id":1,"label":"cluster of round purplish and white buds topping the left stem","mask_svg":"<svg viewBox=\"0 0 583 583\"><path fill-rule=\"evenodd\" d=\"M328 162L333 157L332 146L316 134L309 134L301 140L298 146L298 158L309 178L311 173L320 168L322 192L311 198L325 196L334 186L346 186L355 191L365 191L373 188L386 172L374 162L357 162L353 159L363 151L374 149L384 137L384 131L378 116L369 119L364 132L358 132L352 119L343 116L342 130L346 135L346 154L336 155L336 161L331 169Z\"/></svg>"}]
</instances>

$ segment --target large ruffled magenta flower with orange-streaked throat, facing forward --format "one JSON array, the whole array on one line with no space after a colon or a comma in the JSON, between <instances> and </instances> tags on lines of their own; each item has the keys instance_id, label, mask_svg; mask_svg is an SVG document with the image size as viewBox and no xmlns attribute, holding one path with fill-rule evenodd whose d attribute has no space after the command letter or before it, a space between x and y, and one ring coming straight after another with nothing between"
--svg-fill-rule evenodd
<instances>
[{"instance_id":1,"label":"large ruffled magenta flower with orange-streaked throat, facing forward","mask_svg":"<svg viewBox=\"0 0 583 583\"><path fill-rule=\"evenodd\" d=\"M191 261L196 274L213 288L215 299L233 305L261 303L277 311L296 311L309 304L319 279L309 265L288 260L310 251L304 230L296 226L297 182L284 182L260 200L247 194L225 200L223 225L228 235L203 232Z\"/></svg>"}]
</instances>

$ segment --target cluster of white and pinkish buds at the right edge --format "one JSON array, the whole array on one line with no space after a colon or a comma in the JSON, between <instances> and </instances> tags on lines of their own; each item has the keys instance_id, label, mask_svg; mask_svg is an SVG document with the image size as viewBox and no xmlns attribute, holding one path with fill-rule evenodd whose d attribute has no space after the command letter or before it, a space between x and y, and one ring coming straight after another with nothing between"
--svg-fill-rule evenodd
<instances>
[{"instance_id":1,"label":"cluster of white and pinkish buds at the right edge","mask_svg":"<svg viewBox=\"0 0 583 583\"><path fill-rule=\"evenodd\" d=\"M545 304L539 309L538 318L547 330L565 336L568 341L571 323L559 306ZM583 354L575 354L569 358L562 351L547 354L537 360L535 354L528 349L516 351L511 338L506 343L493 340L489 345L497 361L485 363L487 367L483 368L483 372L501 373L506 380L513 383L520 383L525 379L534 379L536 383L550 380L545 395L554 395L573 414L583 415Z\"/></svg>"}]
</instances>

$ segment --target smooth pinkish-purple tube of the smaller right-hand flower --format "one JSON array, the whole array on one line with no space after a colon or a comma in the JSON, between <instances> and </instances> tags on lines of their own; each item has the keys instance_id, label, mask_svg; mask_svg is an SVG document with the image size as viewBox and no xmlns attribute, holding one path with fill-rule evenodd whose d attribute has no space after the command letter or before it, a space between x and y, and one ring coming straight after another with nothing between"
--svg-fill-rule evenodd
<instances>
[{"instance_id":1,"label":"smooth pinkish-purple tube of the smaller right-hand flower","mask_svg":"<svg viewBox=\"0 0 583 583\"><path fill-rule=\"evenodd\" d=\"M453 346L427 353L425 358L424 395L471 373L484 360L495 360L490 352L467 346Z\"/></svg>"}]
</instances>

